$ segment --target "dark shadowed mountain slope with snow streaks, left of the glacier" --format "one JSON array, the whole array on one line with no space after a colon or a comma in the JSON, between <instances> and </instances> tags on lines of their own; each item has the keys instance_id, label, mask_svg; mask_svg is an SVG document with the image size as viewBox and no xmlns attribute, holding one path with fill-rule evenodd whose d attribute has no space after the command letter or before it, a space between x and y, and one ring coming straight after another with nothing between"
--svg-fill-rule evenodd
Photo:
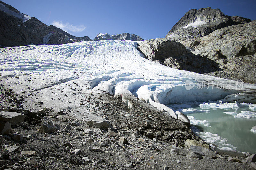
<instances>
[{"instance_id":1,"label":"dark shadowed mountain slope with snow streaks, left of the glacier","mask_svg":"<svg viewBox=\"0 0 256 170\"><path fill-rule=\"evenodd\" d=\"M88 36L75 37L55 26L47 26L35 17L22 14L2 1L0 22L0 45L5 47L91 41Z\"/></svg>"}]
</instances>

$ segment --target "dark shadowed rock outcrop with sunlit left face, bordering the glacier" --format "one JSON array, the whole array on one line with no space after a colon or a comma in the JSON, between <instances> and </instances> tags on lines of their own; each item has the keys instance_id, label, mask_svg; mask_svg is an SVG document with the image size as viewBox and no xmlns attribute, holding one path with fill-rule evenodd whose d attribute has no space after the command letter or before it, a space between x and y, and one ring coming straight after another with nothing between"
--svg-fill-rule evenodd
<instances>
[{"instance_id":1,"label":"dark shadowed rock outcrop with sunlit left face, bordering the glacier","mask_svg":"<svg viewBox=\"0 0 256 170\"><path fill-rule=\"evenodd\" d=\"M156 38L139 43L138 50L151 61L174 69L209 73L219 70L218 64L205 56L189 52L184 45L170 38Z\"/></svg>"}]
</instances>

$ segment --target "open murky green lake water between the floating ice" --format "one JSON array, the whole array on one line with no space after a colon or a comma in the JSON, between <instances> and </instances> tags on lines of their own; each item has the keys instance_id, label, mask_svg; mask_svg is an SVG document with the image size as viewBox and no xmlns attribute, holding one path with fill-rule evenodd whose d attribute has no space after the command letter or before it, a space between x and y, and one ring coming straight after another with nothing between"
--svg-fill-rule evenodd
<instances>
[{"instance_id":1,"label":"open murky green lake water between the floating ice","mask_svg":"<svg viewBox=\"0 0 256 170\"><path fill-rule=\"evenodd\" d=\"M250 130L256 125L256 118L235 118L234 115L228 115L223 112L236 112L241 111L255 112L246 108L236 109L202 109L199 105L191 105L193 109L208 110L209 112L204 113L191 113L186 114L187 116L193 116L197 120L206 120L209 126L203 124L191 125L197 127L201 132L210 132L212 134L218 134L221 138L226 138L225 143L231 144L236 147L236 151L256 153L256 134ZM190 108L190 109L192 109ZM174 108L175 109L175 108ZM205 135L204 133L199 133ZM202 136L204 139L206 136ZM207 138L207 137L206 137ZM207 141L207 139L205 139ZM223 143L223 141L221 141ZM219 149L224 147L220 141L212 141ZM233 148L234 148L233 147ZM232 147L231 147L232 148Z\"/></svg>"}]
</instances>

